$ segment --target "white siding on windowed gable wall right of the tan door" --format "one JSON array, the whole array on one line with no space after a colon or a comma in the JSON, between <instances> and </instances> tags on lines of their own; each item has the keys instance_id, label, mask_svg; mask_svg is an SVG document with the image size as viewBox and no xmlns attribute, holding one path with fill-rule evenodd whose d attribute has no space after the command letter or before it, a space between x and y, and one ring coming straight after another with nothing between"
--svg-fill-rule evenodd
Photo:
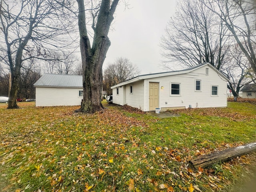
<instances>
[{"instance_id":1,"label":"white siding on windowed gable wall right of the tan door","mask_svg":"<svg viewBox=\"0 0 256 192\"><path fill-rule=\"evenodd\" d=\"M226 107L227 106L227 83L217 72L208 68L208 76L205 75L206 67L198 68L187 74L165 76L147 79L148 82L158 81L160 89L160 108L164 107ZM201 80L201 91L195 91L195 81ZM170 96L170 82L180 83L181 96ZM212 97L212 85L218 85L218 96ZM146 91L145 91L146 94ZM167 103L167 104L166 104Z\"/></svg>"}]
</instances>

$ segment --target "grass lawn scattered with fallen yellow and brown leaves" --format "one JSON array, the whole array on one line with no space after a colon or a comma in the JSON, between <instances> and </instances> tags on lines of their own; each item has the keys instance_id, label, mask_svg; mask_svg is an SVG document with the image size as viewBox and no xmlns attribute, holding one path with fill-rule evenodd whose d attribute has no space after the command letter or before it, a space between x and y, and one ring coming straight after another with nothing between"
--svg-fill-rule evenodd
<instances>
[{"instance_id":1,"label":"grass lawn scattered with fallen yellow and brown leaves","mask_svg":"<svg viewBox=\"0 0 256 192\"><path fill-rule=\"evenodd\" d=\"M18 105L0 104L1 192L250 191L255 154L188 166L197 156L256 142L249 103L177 110L180 117L163 119L106 102L96 114Z\"/></svg>"}]
</instances>

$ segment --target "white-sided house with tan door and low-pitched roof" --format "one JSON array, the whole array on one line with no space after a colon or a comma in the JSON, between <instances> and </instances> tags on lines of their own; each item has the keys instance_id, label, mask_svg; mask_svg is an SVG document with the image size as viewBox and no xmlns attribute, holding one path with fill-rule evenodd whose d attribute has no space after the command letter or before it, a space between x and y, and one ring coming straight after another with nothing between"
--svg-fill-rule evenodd
<instances>
[{"instance_id":1,"label":"white-sided house with tan door and low-pitched roof","mask_svg":"<svg viewBox=\"0 0 256 192\"><path fill-rule=\"evenodd\" d=\"M210 63L185 70L139 75L112 86L113 103L142 111L227 106L227 82Z\"/></svg>"}]
</instances>

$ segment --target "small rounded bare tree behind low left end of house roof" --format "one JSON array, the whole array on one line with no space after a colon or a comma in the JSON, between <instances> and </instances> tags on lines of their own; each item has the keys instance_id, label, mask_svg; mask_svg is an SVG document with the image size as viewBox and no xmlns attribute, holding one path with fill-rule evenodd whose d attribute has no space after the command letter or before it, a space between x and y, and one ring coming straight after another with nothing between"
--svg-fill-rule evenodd
<instances>
[{"instance_id":1,"label":"small rounded bare tree behind low left end of house roof","mask_svg":"<svg viewBox=\"0 0 256 192\"><path fill-rule=\"evenodd\" d=\"M111 86L124 82L140 73L138 66L127 58L119 57L113 64L108 64L104 70L103 84L108 94L112 93Z\"/></svg>"}]
</instances>

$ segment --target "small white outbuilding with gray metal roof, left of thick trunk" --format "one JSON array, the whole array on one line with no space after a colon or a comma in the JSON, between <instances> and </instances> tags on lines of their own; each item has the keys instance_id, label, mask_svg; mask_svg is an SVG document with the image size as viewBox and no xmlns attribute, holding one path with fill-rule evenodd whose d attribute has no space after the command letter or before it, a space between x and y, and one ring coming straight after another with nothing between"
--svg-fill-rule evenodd
<instances>
[{"instance_id":1,"label":"small white outbuilding with gray metal roof, left of thick trunk","mask_svg":"<svg viewBox=\"0 0 256 192\"><path fill-rule=\"evenodd\" d=\"M35 84L36 106L76 106L83 98L81 75L44 74Z\"/></svg>"}]
</instances>

